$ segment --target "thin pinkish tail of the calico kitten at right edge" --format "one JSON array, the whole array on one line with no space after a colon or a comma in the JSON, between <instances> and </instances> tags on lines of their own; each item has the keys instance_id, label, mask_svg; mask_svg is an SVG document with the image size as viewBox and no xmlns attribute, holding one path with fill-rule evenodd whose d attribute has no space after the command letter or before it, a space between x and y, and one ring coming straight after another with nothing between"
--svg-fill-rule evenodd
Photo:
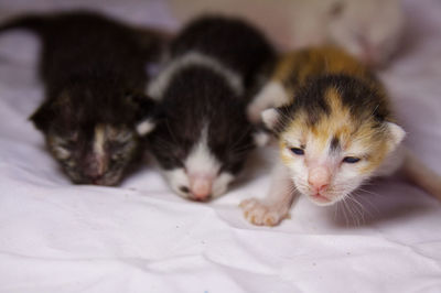
<instances>
[{"instance_id":1,"label":"thin pinkish tail of the calico kitten at right edge","mask_svg":"<svg viewBox=\"0 0 441 293\"><path fill-rule=\"evenodd\" d=\"M409 181L441 200L441 176L418 160L409 150L406 150L401 171Z\"/></svg>"}]
</instances>

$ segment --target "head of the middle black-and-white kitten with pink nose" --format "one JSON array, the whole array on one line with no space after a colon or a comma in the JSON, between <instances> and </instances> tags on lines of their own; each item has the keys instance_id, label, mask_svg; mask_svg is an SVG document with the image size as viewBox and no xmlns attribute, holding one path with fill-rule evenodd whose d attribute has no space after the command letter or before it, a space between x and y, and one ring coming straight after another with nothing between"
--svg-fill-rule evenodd
<instances>
[{"instance_id":1,"label":"head of the middle black-and-white kitten with pink nose","mask_svg":"<svg viewBox=\"0 0 441 293\"><path fill-rule=\"evenodd\" d=\"M206 120L193 129L180 124L159 123L150 137L150 149L171 188L201 202L223 195L254 149L251 131L228 132Z\"/></svg>"}]
</instances>

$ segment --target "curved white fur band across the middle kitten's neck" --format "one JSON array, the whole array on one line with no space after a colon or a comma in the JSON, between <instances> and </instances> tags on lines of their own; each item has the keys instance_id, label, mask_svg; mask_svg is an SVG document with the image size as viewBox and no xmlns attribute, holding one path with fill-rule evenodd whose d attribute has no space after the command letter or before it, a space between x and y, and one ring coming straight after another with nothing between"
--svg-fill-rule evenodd
<instances>
[{"instance_id":1,"label":"curved white fur band across the middle kitten's neck","mask_svg":"<svg viewBox=\"0 0 441 293\"><path fill-rule=\"evenodd\" d=\"M149 85L148 95L153 99L160 100L174 75L192 65L204 66L222 75L236 95L244 93L243 79L239 74L227 68L215 58L200 52L190 52L165 65L161 74Z\"/></svg>"}]
</instances>

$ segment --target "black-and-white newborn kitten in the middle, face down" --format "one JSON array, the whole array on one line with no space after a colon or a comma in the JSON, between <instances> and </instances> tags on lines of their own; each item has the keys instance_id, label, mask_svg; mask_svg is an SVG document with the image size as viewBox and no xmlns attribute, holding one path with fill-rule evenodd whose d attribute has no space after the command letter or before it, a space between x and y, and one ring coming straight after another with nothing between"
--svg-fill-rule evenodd
<instances>
[{"instance_id":1,"label":"black-and-white newborn kitten in the middle, face down","mask_svg":"<svg viewBox=\"0 0 441 293\"><path fill-rule=\"evenodd\" d=\"M168 55L149 87L162 111L144 128L157 123L148 140L171 188L205 202L227 191L255 146L246 106L275 53L245 22L206 17L186 25Z\"/></svg>"}]
</instances>

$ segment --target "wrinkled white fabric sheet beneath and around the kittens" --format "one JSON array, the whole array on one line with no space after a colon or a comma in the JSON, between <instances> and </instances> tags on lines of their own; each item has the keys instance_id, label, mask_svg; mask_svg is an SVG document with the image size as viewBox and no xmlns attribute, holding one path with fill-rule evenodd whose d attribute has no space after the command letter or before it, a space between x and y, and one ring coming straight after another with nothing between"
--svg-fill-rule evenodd
<instances>
[{"instance_id":1,"label":"wrinkled white fabric sheet beneath and around the kittens","mask_svg":"<svg viewBox=\"0 0 441 293\"><path fill-rule=\"evenodd\" d=\"M160 0L2 0L0 17L77 6L176 26ZM441 2L406 7L380 75L406 144L441 173ZM172 194L152 160L117 188L72 185L26 120L43 96L37 48L30 33L0 37L0 292L441 292L441 205L398 177L364 186L352 213L300 198L275 228L238 208L265 195L269 150L209 204Z\"/></svg>"}]
</instances>

